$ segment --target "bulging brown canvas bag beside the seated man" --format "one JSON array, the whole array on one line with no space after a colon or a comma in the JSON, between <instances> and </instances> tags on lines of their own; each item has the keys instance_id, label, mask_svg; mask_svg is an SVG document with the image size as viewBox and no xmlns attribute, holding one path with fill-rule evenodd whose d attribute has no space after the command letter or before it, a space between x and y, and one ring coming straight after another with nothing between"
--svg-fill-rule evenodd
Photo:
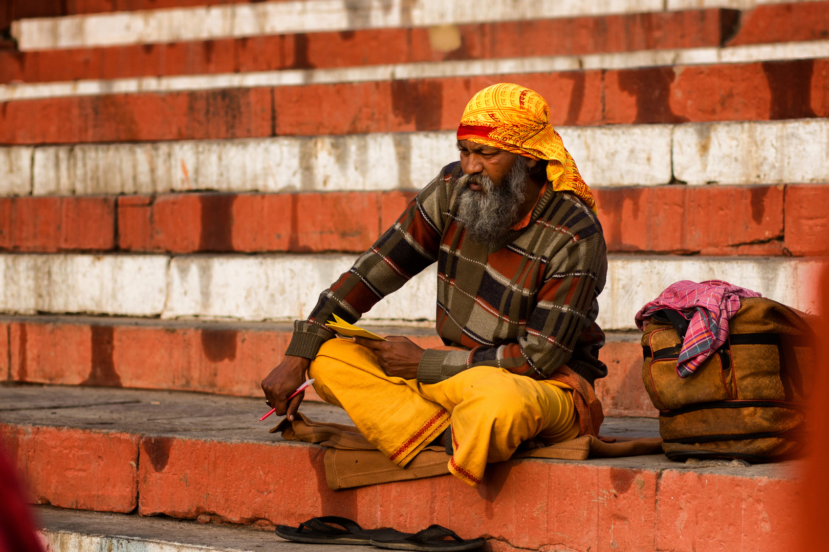
<instances>
[{"instance_id":1,"label":"bulging brown canvas bag beside the seated man","mask_svg":"<svg viewBox=\"0 0 829 552\"><path fill-rule=\"evenodd\" d=\"M813 317L762 297L743 299L728 341L681 378L681 338L666 314L657 312L642 335L642 380L659 410L667 457L771 462L797 454L814 366L804 316Z\"/></svg>"}]
</instances>

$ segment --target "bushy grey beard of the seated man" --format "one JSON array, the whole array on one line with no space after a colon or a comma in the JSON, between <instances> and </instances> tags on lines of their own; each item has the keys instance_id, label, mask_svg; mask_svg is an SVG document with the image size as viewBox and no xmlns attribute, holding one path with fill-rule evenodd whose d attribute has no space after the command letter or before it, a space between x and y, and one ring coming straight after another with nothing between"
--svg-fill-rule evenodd
<instances>
[{"instance_id":1,"label":"bushy grey beard of the seated man","mask_svg":"<svg viewBox=\"0 0 829 552\"><path fill-rule=\"evenodd\" d=\"M463 175L458 179L458 185L464 187L458 219L466 227L468 238L478 243L495 243L518 222L518 209L526 198L528 165L526 157L516 157L500 186L482 174ZM468 185L473 183L482 190L470 190Z\"/></svg>"}]
</instances>

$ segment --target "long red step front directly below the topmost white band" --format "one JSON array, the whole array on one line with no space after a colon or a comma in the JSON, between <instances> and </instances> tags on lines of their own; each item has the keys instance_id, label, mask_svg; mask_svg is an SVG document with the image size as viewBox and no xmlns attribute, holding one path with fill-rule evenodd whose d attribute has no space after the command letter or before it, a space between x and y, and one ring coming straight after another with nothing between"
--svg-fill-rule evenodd
<instances>
[{"instance_id":1,"label":"long red step front directly below the topmost white band","mask_svg":"<svg viewBox=\"0 0 829 552\"><path fill-rule=\"evenodd\" d=\"M829 5L829 2L822 2ZM720 46L737 21L734 10L638 13L459 25L461 46L434 50L425 27L309 32L279 36L0 52L0 83L119 79L326 69L443 60ZM814 18L802 26L820 26ZM821 27L824 28L824 27Z\"/></svg>"}]
</instances>

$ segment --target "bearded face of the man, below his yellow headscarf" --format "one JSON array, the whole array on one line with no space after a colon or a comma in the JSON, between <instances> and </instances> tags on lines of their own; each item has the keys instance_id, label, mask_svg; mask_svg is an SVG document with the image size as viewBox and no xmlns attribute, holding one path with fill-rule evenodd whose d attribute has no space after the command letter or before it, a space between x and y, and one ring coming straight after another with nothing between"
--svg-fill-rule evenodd
<instances>
[{"instance_id":1,"label":"bearded face of the man, below his yellow headscarf","mask_svg":"<svg viewBox=\"0 0 829 552\"><path fill-rule=\"evenodd\" d=\"M497 242L518 220L532 160L466 140L458 150L458 221L475 242Z\"/></svg>"}]
</instances>

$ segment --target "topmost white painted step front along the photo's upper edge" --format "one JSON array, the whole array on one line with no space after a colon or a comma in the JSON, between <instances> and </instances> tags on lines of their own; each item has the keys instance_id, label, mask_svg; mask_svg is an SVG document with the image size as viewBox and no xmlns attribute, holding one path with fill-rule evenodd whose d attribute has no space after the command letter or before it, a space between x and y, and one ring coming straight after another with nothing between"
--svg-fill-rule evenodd
<instances>
[{"instance_id":1,"label":"topmost white painted step front along the photo's upper edge","mask_svg":"<svg viewBox=\"0 0 829 552\"><path fill-rule=\"evenodd\" d=\"M781 0L294 0L22 19L21 50L206 41L293 32L438 26L701 7L747 9Z\"/></svg>"}]
</instances>

